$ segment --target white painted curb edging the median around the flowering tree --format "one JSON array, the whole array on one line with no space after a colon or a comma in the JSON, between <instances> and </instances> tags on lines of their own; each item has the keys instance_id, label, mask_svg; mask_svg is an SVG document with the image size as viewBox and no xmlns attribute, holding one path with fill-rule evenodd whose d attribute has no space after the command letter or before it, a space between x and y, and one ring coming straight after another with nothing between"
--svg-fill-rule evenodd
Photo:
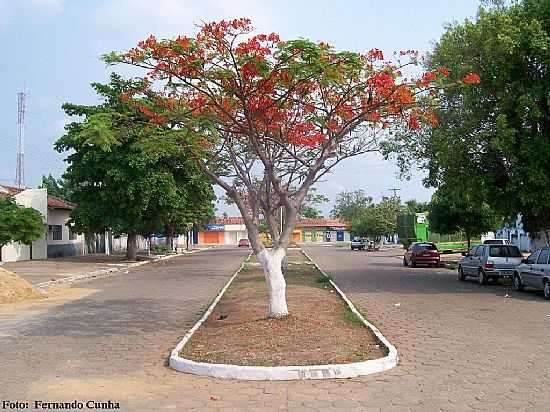
<instances>
[{"instance_id":1,"label":"white painted curb edging the median around the flowering tree","mask_svg":"<svg viewBox=\"0 0 550 412\"><path fill-rule=\"evenodd\" d=\"M245 263L250 259L248 258L242 263L241 267L235 272L235 274L229 279L223 289L218 293L210 307L202 315L202 317L195 323L195 325L187 332L183 339L176 345L170 354L170 367L185 373L191 373L201 376L212 376L215 378L223 379L240 379L240 380L303 380L303 379L334 379L334 378L354 378L357 376L370 375L373 373L382 372L397 366L399 360L397 356L397 349L393 346L384 335L368 322L361 313L353 306L353 303L347 298L347 296L340 290L338 286L330 279L330 277L311 259L307 253L302 253L315 265L315 267L327 278L330 283L340 294L344 302L348 305L350 310L357 315L359 319L370 328L380 342L388 349L388 354L379 359L371 359L363 362L334 364L334 365L311 365L311 366L240 366L229 365L219 363L206 363L195 362L190 359L185 359L179 356L179 353L185 346L185 344L191 339L191 336L197 331L197 329L206 321L208 316L212 313L221 297L231 284L239 272L243 269Z\"/></svg>"}]
</instances>

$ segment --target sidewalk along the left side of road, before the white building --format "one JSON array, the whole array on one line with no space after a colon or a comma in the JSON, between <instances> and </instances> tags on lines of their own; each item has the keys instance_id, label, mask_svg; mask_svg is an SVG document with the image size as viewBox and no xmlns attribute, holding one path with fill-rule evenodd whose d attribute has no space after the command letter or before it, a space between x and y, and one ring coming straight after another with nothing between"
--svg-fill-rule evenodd
<instances>
[{"instance_id":1,"label":"sidewalk along the left side of road, before the white building","mask_svg":"<svg viewBox=\"0 0 550 412\"><path fill-rule=\"evenodd\" d=\"M196 253L204 248L174 255L143 255L139 261L128 261L125 255L80 255L47 260L26 260L5 263L2 267L16 273L34 286L47 286L50 282L65 283L78 279L105 276L114 272L127 272L130 268L152 261Z\"/></svg>"}]
</instances>

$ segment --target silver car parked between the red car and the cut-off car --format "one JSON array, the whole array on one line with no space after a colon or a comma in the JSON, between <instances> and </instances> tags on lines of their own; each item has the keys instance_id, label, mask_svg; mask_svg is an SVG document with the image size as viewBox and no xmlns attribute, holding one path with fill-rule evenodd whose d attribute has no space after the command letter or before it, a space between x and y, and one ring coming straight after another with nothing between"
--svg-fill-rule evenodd
<instances>
[{"instance_id":1,"label":"silver car parked between the red car and the cut-off car","mask_svg":"<svg viewBox=\"0 0 550 412\"><path fill-rule=\"evenodd\" d=\"M522 257L517 246L474 246L458 261L458 279L466 280L467 276L473 276L478 278L480 285L484 285L489 279L511 278Z\"/></svg>"}]
</instances>

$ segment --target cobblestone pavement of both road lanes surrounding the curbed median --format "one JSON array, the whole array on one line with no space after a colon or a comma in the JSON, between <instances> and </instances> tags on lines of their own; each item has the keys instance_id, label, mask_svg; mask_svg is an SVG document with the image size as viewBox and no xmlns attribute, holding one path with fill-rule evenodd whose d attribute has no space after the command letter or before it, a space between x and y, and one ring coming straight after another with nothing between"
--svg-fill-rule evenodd
<instances>
[{"instance_id":1,"label":"cobblestone pavement of both road lanes surrounding the curbed median","mask_svg":"<svg viewBox=\"0 0 550 412\"><path fill-rule=\"evenodd\" d=\"M539 294L403 268L396 251L307 251L397 346L396 368L302 382L172 371L169 351L244 257L211 250L87 282L94 293L37 304L25 317L0 316L0 400L111 399L124 411L550 410L550 304Z\"/></svg>"}]
</instances>

